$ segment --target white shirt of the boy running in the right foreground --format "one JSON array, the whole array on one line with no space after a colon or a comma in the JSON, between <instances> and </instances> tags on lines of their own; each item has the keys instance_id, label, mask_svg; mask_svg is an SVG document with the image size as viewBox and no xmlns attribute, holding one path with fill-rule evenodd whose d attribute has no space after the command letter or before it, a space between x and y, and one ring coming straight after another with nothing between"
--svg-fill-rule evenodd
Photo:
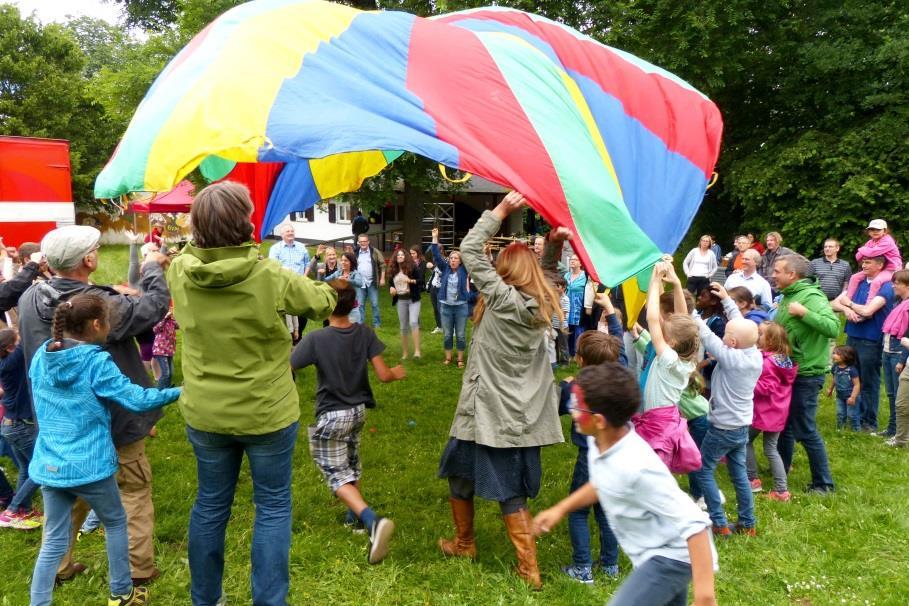
<instances>
[{"instance_id":1,"label":"white shirt of the boy running in the right foreground","mask_svg":"<svg viewBox=\"0 0 909 606\"><path fill-rule=\"evenodd\" d=\"M622 550L635 568L656 556L691 563L688 539L710 528L710 517L682 492L669 469L629 424L629 432L600 453L588 437L590 482ZM716 548L710 540L713 569Z\"/></svg>"}]
</instances>

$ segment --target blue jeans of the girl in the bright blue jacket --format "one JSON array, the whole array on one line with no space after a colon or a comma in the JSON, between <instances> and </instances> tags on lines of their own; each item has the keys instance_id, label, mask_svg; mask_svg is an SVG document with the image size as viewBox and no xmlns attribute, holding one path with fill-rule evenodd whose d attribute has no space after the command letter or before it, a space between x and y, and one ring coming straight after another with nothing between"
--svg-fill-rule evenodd
<instances>
[{"instance_id":1,"label":"blue jeans of the girl in the bright blue jacket","mask_svg":"<svg viewBox=\"0 0 909 606\"><path fill-rule=\"evenodd\" d=\"M41 488L44 494L44 539L32 575L32 606L51 603L57 567L69 549L70 513L81 497L104 523L110 592L128 594L133 582L129 570L129 538L126 533L126 510L120 503L115 476L72 488Z\"/></svg>"}]
</instances>

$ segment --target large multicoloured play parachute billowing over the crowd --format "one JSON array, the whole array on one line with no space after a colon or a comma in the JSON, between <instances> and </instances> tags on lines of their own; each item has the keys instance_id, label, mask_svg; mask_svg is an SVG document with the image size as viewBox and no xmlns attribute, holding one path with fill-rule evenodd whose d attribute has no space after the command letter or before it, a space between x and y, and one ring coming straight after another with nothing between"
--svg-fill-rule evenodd
<instances>
[{"instance_id":1,"label":"large multicoloured play parachute billowing over the crowd","mask_svg":"<svg viewBox=\"0 0 909 606\"><path fill-rule=\"evenodd\" d=\"M615 285L678 246L721 132L686 82L521 11L423 19L257 0L165 68L95 195L168 191L200 164L216 178L233 162L285 162L267 232L410 151L523 192Z\"/></svg>"}]
</instances>

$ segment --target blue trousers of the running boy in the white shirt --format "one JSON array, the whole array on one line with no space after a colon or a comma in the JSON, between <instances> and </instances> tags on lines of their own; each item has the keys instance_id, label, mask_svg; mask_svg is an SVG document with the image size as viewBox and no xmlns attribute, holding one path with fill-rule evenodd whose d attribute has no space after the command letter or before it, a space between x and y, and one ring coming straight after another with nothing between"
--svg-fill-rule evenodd
<instances>
[{"instance_id":1,"label":"blue trousers of the running boy in the white shirt","mask_svg":"<svg viewBox=\"0 0 909 606\"><path fill-rule=\"evenodd\" d=\"M687 606L691 564L656 556L628 575L606 606Z\"/></svg>"}]
</instances>

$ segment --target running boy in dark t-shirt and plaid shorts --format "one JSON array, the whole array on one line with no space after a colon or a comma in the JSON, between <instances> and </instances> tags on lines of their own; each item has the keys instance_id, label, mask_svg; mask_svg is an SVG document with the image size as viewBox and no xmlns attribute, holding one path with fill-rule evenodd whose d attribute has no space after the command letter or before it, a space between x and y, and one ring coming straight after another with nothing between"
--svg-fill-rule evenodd
<instances>
[{"instance_id":1,"label":"running boy in dark t-shirt and plaid shorts","mask_svg":"<svg viewBox=\"0 0 909 606\"><path fill-rule=\"evenodd\" d=\"M366 363L372 363L383 383L403 379L404 368L388 368L382 358L385 345L376 333L350 322L348 315L357 300L353 286L346 280L329 284L338 291L338 304L329 324L303 337L290 356L290 364L295 370L316 366L316 423L309 426L309 451L331 491L369 532L367 561L378 564L388 555L395 526L388 518L376 515L358 487L362 472L360 432L366 409L376 405Z\"/></svg>"}]
</instances>

